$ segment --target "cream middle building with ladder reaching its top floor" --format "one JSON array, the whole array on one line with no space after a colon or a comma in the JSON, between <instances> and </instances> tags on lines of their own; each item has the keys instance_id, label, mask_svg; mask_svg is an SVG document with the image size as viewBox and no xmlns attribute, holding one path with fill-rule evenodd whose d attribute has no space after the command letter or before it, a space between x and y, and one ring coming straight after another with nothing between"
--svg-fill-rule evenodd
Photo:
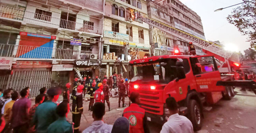
<instances>
[{"instance_id":1,"label":"cream middle building with ladder reaching its top floor","mask_svg":"<svg viewBox=\"0 0 256 133\"><path fill-rule=\"evenodd\" d=\"M102 76L116 73L128 77L128 61L150 54L149 25L133 21L135 10L147 16L147 3L146 0L106 0L105 5Z\"/></svg>"}]
</instances>

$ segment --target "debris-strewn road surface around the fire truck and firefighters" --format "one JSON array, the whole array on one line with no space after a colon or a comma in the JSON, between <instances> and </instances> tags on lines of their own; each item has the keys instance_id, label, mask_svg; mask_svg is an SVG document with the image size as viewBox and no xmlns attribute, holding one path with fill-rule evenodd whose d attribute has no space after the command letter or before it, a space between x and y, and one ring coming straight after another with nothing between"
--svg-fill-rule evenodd
<instances>
[{"instance_id":1,"label":"debris-strewn road surface around the fire truck and firefighters","mask_svg":"<svg viewBox=\"0 0 256 133\"><path fill-rule=\"evenodd\" d=\"M236 88L236 95L232 100L220 100L211 105L210 111L204 111L202 130L198 133L252 133L256 132L256 95L249 91L240 91ZM88 97L88 96L87 96ZM125 98L125 104L128 105L129 99ZM83 103L83 114L88 122L82 116L80 131L86 129L93 122L92 112L88 111L88 101ZM121 103L122 104L122 103ZM122 116L125 108L118 108L118 98L110 98L111 111L108 111L106 103L106 114L103 120L107 124L114 124L115 120ZM122 106L122 105L121 105ZM72 120L72 114L68 114L68 119ZM149 123L151 133L159 133L162 125Z\"/></svg>"}]
</instances>

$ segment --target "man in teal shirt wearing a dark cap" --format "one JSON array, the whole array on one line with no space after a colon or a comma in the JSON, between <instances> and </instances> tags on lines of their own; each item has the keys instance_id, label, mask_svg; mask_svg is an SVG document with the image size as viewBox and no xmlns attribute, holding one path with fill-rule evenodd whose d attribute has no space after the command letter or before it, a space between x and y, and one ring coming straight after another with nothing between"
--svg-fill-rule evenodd
<instances>
[{"instance_id":1,"label":"man in teal shirt wearing a dark cap","mask_svg":"<svg viewBox=\"0 0 256 133\"><path fill-rule=\"evenodd\" d=\"M48 126L58 119L55 112L57 104L54 102L58 100L61 88L52 87L48 89L47 94L48 100L40 104L35 111L33 124L37 133L46 133Z\"/></svg>"}]
</instances>

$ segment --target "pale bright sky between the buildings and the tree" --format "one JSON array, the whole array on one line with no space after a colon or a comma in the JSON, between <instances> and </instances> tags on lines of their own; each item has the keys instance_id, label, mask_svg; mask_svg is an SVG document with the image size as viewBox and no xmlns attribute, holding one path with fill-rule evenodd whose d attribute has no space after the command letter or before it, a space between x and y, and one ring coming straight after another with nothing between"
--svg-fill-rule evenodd
<instances>
[{"instance_id":1,"label":"pale bright sky between the buildings and the tree","mask_svg":"<svg viewBox=\"0 0 256 133\"><path fill-rule=\"evenodd\" d=\"M228 49L234 49L242 53L250 47L250 43L247 42L247 36L241 35L238 29L234 25L229 24L226 19L232 10L239 5L214 12L216 9L242 3L242 0L180 1L201 17L206 40L219 40L223 45L227 45Z\"/></svg>"}]
</instances>

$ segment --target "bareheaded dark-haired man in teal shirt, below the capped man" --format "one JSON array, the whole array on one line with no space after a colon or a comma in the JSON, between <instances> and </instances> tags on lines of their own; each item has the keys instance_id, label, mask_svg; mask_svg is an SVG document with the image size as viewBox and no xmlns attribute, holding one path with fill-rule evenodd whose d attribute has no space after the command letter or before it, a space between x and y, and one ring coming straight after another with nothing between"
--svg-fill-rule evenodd
<instances>
[{"instance_id":1,"label":"bareheaded dark-haired man in teal shirt, below the capped man","mask_svg":"<svg viewBox=\"0 0 256 133\"><path fill-rule=\"evenodd\" d=\"M47 128L48 133L73 133L72 122L68 122L65 117L69 112L68 107L67 100L63 100L56 107L56 113L59 118Z\"/></svg>"}]
</instances>

